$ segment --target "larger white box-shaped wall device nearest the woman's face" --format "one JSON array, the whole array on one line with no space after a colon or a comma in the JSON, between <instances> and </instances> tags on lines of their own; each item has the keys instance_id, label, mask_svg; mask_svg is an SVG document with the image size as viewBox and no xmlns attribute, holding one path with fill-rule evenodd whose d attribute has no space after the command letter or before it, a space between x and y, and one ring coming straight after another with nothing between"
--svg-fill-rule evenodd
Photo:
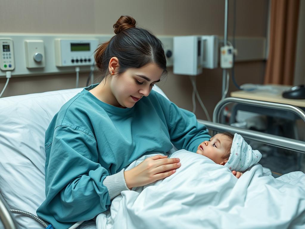
<instances>
[{"instance_id":1,"label":"larger white box-shaped wall device nearest the woman's face","mask_svg":"<svg viewBox=\"0 0 305 229\"><path fill-rule=\"evenodd\" d=\"M201 36L174 37L174 74L199 75L202 73Z\"/></svg>"}]
</instances>

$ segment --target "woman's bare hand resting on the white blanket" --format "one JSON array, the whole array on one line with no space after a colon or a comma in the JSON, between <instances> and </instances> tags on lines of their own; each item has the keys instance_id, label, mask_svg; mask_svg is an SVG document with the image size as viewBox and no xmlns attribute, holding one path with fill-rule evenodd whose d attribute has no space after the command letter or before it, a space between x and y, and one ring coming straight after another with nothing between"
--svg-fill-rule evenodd
<instances>
[{"instance_id":1,"label":"woman's bare hand resting on the white blanket","mask_svg":"<svg viewBox=\"0 0 305 229\"><path fill-rule=\"evenodd\" d=\"M170 176L181 166L179 161L179 158L167 158L162 155L146 158L135 168L124 171L126 185L128 188L144 186Z\"/></svg>"}]
</instances>

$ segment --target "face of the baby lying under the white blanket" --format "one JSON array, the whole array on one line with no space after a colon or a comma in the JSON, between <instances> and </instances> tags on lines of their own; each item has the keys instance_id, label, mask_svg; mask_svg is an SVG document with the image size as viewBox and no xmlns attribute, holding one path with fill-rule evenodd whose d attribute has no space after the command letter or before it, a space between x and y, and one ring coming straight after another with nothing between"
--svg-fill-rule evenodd
<instances>
[{"instance_id":1,"label":"face of the baby lying under the white blanket","mask_svg":"<svg viewBox=\"0 0 305 229\"><path fill-rule=\"evenodd\" d=\"M209 141L202 142L196 153L210 158L217 164L224 165L228 160L222 157L226 154L230 143L231 140L227 136L216 134Z\"/></svg>"}]
</instances>

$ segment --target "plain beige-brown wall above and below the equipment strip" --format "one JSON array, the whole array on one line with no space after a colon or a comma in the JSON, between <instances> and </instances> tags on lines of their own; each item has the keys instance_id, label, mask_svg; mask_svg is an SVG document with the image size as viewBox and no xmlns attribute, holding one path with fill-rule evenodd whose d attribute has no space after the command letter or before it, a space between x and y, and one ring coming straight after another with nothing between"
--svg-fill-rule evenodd
<instances>
[{"instance_id":1,"label":"plain beige-brown wall above and below the equipment strip","mask_svg":"<svg viewBox=\"0 0 305 229\"><path fill-rule=\"evenodd\" d=\"M237 0L236 36L266 36L268 0ZM233 28L233 1L229 1L228 35ZM156 35L221 35L224 31L224 0L1 0L0 32L113 33L121 15L131 15L139 26ZM235 65L239 84L263 83L264 61ZM80 76L84 86L88 73ZM197 88L210 115L221 98L222 70L203 70ZM0 89L5 79L0 79ZM230 90L236 90L230 82ZM12 78L3 96L73 88L75 74ZM188 76L169 75L159 85L179 107L192 110ZM196 115L205 119L197 104Z\"/></svg>"}]
</instances>

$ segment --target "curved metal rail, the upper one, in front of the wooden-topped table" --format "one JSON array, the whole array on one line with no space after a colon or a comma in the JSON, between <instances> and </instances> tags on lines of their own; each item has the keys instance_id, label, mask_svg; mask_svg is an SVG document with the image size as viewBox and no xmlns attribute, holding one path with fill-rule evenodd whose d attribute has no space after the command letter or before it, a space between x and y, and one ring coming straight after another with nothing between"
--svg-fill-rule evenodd
<instances>
[{"instance_id":1,"label":"curved metal rail, the upper one, in front of the wooden-topped table","mask_svg":"<svg viewBox=\"0 0 305 229\"><path fill-rule=\"evenodd\" d=\"M239 103L239 104L247 104L247 105L253 105L257 107L267 107L267 108L274 108L278 110L285 110L285 111L292 111L296 115L299 115L301 119L305 122L305 112L300 109L299 107L295 107L289 104L280 104L280 103L272 103L272 102L266 102L266 101L260 101L260 100L249 100L249 99L241 99L241 98L235 98L235 97L228 97L223 100L220 100L214 109L213 112L213 122L219 123L220 122L220 114L222 109L225 105L230 103Z\"/></svg>"}]
</instances>

